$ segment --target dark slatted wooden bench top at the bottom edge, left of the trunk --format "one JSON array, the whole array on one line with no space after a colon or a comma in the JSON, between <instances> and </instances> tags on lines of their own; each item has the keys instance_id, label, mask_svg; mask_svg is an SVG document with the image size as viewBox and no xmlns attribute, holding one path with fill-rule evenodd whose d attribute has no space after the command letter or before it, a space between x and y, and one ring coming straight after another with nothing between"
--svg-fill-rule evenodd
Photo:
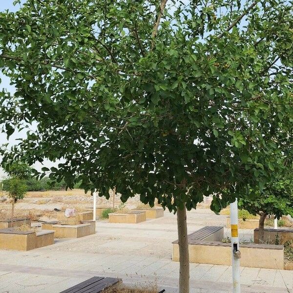
<instances>
[{"instance_id":1,"label":"dark slatted wooden bench top at the bottom edge, left of the trunk","mask_svg":"<svg viewBox=\"0 0 293 293\"><path fill-rule=\"evenodd\" d=\"M99 293L119 282L121 282L121 279L92 277L60 293Z\"/></svg>"}]
</instances>

